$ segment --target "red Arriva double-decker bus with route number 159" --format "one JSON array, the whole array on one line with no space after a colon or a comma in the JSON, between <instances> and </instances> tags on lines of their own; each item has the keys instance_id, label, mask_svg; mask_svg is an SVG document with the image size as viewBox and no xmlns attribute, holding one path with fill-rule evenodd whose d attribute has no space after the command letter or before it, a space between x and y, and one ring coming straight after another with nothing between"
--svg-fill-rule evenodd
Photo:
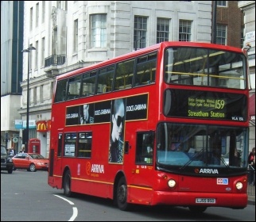
<instances>
[{"instance_id":1,"label":"red Arriva double-decker bus with route number 159","mask_svg":"<svg viewBox=\"0 0 256 222\"><path fill-rule=\"evenodd\" d=\"M48 185L130 205L247 205L246 51L162 42L56 78Z\"/></svg>"}]
</instances>

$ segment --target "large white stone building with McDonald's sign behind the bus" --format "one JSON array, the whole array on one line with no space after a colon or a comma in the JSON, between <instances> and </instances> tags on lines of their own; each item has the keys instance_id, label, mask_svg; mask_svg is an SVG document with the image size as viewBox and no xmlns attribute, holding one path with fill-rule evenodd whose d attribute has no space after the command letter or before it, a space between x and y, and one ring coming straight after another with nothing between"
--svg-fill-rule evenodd
<instances>
[{"instance_id":1,"label":"large white stone building with McDonald's sign behind the bus","mask_svg":"<svg viewBox=\"0 0 256 222\"><path fill-rule=\"evenodd\" d=\"M48 157L56 75L163 40L211 42L211 1L25 1L21 108ZM30 58L29 67L28 59ZM64 112L64 110L60 110ZM22 136L22 132L20 132Z\"/></svg>"}]
</instances>

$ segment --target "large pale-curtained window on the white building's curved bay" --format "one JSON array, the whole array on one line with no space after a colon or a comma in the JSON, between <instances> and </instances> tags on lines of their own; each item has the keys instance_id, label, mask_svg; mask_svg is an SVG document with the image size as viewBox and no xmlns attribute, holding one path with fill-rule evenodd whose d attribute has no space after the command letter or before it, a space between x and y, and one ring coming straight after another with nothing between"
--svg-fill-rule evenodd
<instances>
[{"instance_id":1,"label":"large pale-curtained window on the white building's curved bay","mask_svg":"<svg viewBox=\"0 0 256 222\"><path fill-rule=\"evenodd\" d=\"M107 15L91 15L91 48L107 47Z\"/></svg>"}]
</instances>

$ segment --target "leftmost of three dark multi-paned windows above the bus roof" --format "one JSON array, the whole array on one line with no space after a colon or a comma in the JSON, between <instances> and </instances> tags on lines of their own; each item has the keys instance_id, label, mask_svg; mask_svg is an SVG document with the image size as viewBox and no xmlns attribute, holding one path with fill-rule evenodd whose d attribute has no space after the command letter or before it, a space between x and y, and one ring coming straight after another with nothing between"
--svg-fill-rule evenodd
<instances>
[{"instance_id":1,"label":"leftmost of three dark multi-paned windows above the bus roof","mask_svg":"<svg viewBox=\"0 0 256 222\"><path fill-rule=\"evenodd\" d=\"M134 49L145 48L147 17L134 17Z\"/></svg>"}]
</instances>

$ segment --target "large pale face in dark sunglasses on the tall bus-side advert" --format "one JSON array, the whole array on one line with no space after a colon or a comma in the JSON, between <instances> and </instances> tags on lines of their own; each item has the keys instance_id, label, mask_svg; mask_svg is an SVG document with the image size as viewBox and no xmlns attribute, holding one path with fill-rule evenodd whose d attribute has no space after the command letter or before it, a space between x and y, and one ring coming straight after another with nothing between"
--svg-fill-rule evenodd
<instances>
[{"instance_id":1,"label":"large pale face in dark sunglasses on the tall bus-side advert","mask_svg":"<svg viewBox=\"0 0 256 222\"><path fill-rule=\"evenodd\" d=\"M113 133L115 140L119 140L122 135L122 127L124 123L125 107L123 103L119 106L117 113L113 115Z\"/></svg>"}]
</instances>

